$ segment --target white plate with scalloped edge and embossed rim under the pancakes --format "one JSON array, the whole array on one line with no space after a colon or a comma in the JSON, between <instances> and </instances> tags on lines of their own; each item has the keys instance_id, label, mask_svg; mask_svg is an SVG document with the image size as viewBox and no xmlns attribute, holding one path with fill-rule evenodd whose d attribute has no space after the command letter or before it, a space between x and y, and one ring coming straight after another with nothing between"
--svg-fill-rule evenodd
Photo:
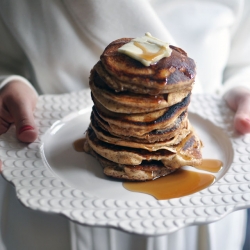
<instances>
[{"instance_id":1,"label":"white plate with scalloped edge and embossed rim under the pancakes","mask_svg":"<svg viewBox=\"0 0 250 250\"><path fill-rule=\"evenodd\" d=\"M25 206L143 235L213 222L249 207L250 135L233 131L233 113L222 100L193 96L189 108L189 119L205 145L204 158L224 163L216 182L189 196L158 201L127 191L122 182L106 178L92 156L73 149L89 124L89 96L89 91L41 96L35 112L40 133L34 143L18 142L14 128L1 136L3 175L14 183Z\"/></svg>"}]
</instances>

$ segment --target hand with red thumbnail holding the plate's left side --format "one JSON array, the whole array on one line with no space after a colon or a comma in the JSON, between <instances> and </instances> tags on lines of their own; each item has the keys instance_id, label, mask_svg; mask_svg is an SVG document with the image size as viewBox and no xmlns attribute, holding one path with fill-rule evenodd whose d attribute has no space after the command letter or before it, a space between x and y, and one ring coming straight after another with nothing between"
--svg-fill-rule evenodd
<instances>
[{"instance_id":1,"label":"hand with red thumbnail holding the plate's left side","mask_svg":"<svg viewBox=\"0 0 250 250\"><path fill-rule=\"evenodd\" d=\"M0 91L0 135L14 123L17 138L33 142L38 136L33 117L36 101L36 93L25 83L12 81L4 86Z\"/></svg>"}]
</instances>

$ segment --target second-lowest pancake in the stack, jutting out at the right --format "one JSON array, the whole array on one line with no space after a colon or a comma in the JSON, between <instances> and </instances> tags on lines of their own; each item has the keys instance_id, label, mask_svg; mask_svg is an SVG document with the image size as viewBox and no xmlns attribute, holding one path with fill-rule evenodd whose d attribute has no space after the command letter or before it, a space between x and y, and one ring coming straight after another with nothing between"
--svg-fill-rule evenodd
<instances>
[{"instance_id":1,"label":"second-lowest pancake in the stack, jutting out at the right","mask_svg":"<svg viewBox=\"0 0 250 250\"><path fill-rule=\"evenodd\" d=\"M128 148L103 142L89 127L86 142L89 147L102 157L123 165L140 165L143 161L161 161L166 167L178 169L182 166L197 166L201 163L202 143L193 130L176 145L176 153L160 149L150 152L144 149Z\"/></svg>"}]
</instances>

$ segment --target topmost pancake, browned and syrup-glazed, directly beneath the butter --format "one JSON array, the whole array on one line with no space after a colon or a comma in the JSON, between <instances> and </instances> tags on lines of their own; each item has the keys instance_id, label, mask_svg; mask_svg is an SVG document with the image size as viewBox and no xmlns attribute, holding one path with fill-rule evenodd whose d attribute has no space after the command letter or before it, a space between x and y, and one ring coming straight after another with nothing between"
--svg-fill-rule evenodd
<instances>
[{"instance_id":1,"label":"topmost pancake, browned and syrup-glazed, directly beneath the butter","mask_svg":"<svg viewBox=\"0 0 250 250\"><path fill-rule=\"evenodd\" d=\"M145 67L139 61L117 51L129 41L131 38L121 38L110 43L101 55L101 62L95 66L109 87L116 91L129 90L152 95L192 89L196 68L193 59L186 52L170 46L171 56Z\"/></svg>"}]
</instances>

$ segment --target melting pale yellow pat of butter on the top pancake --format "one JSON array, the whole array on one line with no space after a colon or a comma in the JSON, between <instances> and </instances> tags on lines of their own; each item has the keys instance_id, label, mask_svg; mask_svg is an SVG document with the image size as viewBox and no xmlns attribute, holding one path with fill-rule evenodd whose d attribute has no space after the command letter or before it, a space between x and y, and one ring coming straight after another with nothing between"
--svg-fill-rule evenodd
<instances>
[{"instance_id":1,"label":"melting pale yellow pat of butter on the top pancake","mask_svg":"<svg viewBox=\"0 0 250 250\"><path fill-rule=\"evenodd\" d=\"M172 50L169 48L169 43L161 41L147 32L145 36L132 39L129 43L124 44L118 49L118 52L140 61L145 66L150 66L163 57L170 56Z\"/></svg>"}]
</instances>

